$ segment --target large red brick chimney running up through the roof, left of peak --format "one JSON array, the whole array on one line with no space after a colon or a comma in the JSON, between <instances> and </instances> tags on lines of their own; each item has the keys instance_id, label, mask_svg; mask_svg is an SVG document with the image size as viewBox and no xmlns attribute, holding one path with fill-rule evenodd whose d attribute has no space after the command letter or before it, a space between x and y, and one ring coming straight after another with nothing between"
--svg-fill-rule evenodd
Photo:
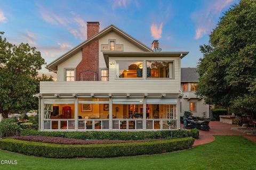
<instances>
[{"instance_id":1,"label":"large red brick chimney running up through the roof, left of peak","mask_svg":"<svg viewBox=\"0 0 256 170\"><path fill-rule=\"evenodd\" d=\"M87 39L99 32L99 22L87 22ZM98 81L99 40L95 39L82 48L82 61L76 67L76 81Z\"/></svg>"}]
</instances>

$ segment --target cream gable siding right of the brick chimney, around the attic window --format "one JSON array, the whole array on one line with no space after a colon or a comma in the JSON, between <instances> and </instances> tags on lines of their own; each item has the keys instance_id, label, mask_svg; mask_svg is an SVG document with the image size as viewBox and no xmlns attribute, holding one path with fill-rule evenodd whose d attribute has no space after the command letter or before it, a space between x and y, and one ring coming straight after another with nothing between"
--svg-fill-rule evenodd
<instances>
[{"instance_id":1,"label":"cream gable siding right of the brick chimney, around the attic window","mask_svg":"<svg viewBox=\"0 0 256 170\"><path fill-rule=\"evenodd\" d=\"M124 52L143 52L140 48L130 43L130 41L124 39L123 37L119 36L114 31L109 32L107 35L101 37L99 39L99 69L107 68L103 53L101 51L101 45L107 45L109 40L116 40L117 45L124 46Z\"/></svg>"}]
</instances>

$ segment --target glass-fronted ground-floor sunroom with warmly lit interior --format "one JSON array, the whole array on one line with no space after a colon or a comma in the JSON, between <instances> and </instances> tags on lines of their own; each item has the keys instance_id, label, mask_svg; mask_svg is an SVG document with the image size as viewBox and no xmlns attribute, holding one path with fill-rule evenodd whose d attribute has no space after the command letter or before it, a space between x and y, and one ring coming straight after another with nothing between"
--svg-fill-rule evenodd
<instances>
[{"instance_id":1,"label":"glass-fronted ground-floor sunroom with warmly lit interior","mask_svg":"<svg viewBox=\"0 0 256 170\"><path fill-rule=\"evenodd\" d=\"M42 98L41 130L178 129L177 98Z\"/></svg>"}]
</instances>

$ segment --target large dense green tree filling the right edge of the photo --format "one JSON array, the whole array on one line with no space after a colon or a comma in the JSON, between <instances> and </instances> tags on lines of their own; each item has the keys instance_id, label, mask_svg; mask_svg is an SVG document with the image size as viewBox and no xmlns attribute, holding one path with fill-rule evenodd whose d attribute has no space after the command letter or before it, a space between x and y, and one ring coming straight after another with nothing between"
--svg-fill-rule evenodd
<instances>
[{"instance_id":1,"label":"large dense green tree filling the right edge of the photo","mask_svg":"<svg viewBox=\"0 0 256 170\"><path fill-rule=\"evenodd\" d=\"M200 46L197 95L207 104L255 115L256 3L233 5L211 32L209 45Z\"/></svg>"}]
</instances>

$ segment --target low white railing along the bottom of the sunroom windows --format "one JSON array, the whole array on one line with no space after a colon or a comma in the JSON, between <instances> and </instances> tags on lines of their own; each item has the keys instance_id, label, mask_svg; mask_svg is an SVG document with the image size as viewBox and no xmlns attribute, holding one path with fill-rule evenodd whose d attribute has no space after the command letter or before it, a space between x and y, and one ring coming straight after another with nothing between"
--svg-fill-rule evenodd
<instances>
[{"instance_id":1,"label":"low white railing along the bottom of the sunroom windows","mask_svg":"<svg viewBox=\"0 0 256 170\"><path fill-rule=\"evenodd\" d=\"M78 119L77 130L109 130L109 119ZM75 130L75 119L44 119L44 130ZM112 120L113 130L143 130L143 119L123 118ZM177 119L147 119L146 130L177 129Z\"/></svg>"}]
</instances>

